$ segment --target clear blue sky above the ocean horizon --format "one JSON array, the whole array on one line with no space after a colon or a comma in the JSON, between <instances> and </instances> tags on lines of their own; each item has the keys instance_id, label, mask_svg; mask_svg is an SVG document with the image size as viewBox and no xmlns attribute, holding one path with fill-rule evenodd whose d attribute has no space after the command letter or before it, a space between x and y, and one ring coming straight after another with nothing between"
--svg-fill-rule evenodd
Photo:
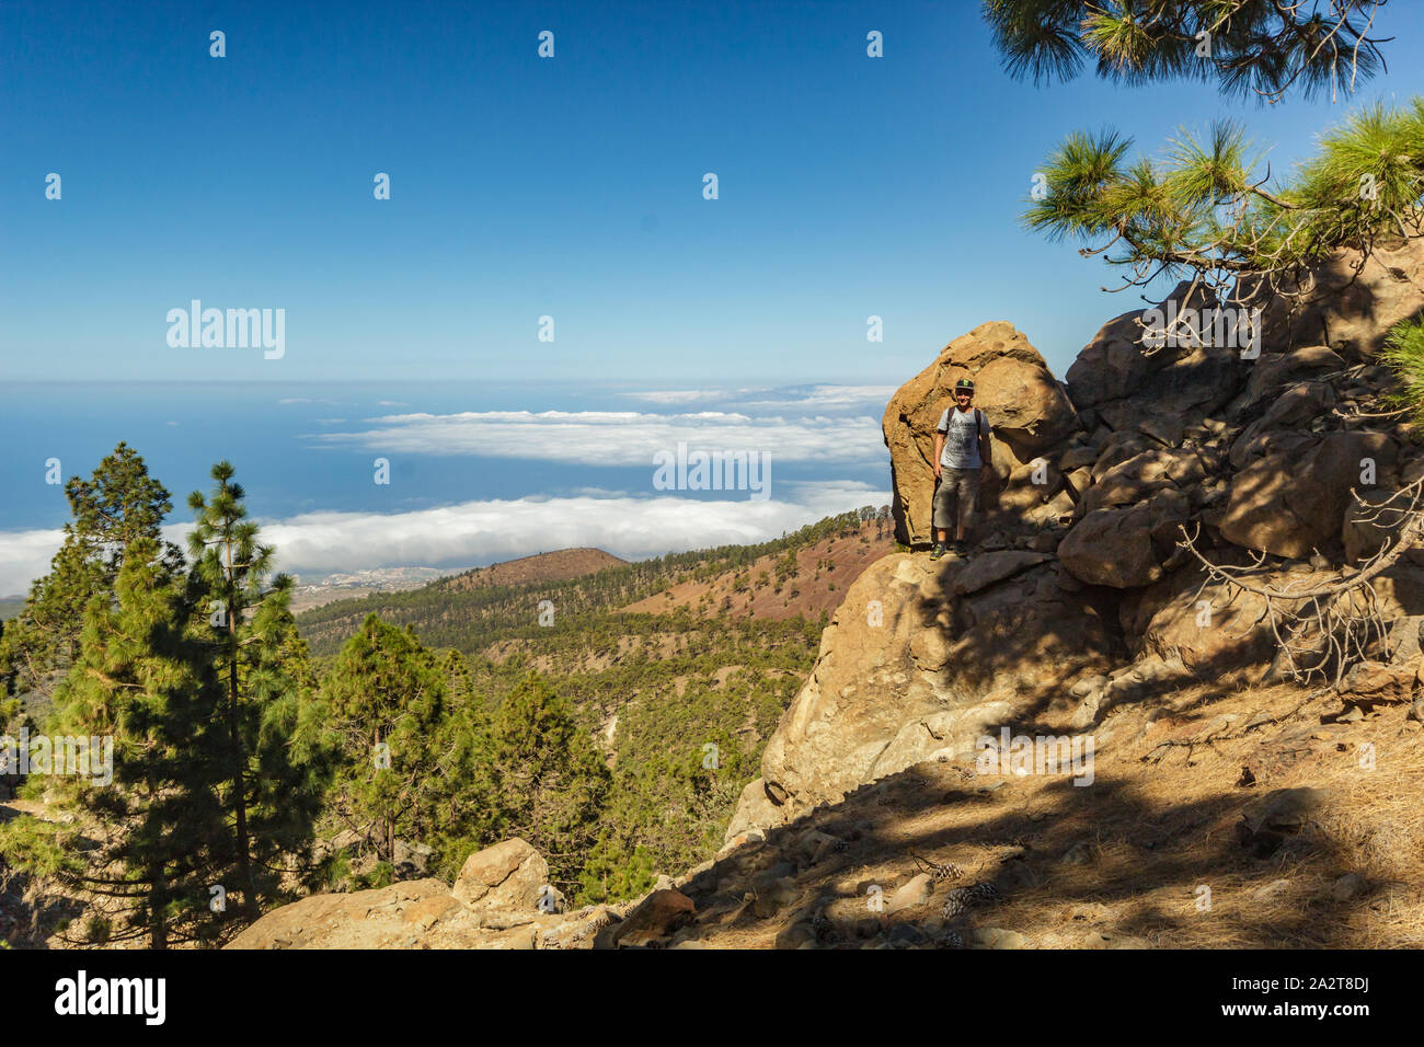
<instances>
[{"instance_id":1,"label":"clear blue sky above the ocean horizon","mask_svg":"<svg viewBox=\"0 0 1424 1047\"><path fill-rule=\"evenodd\" d=\"M1381 23L1358 100L1424 93L1424 4ZM1062 375L1135 302L1018 226L1040 161L1233 113L1014 83L970 0L7 0L0 98L4 379L899 383L990 319ZM1350 104L1235 111L1280 167ZM171 349L192 298L285 308L286 358Z\"/></svg>"}]
</instances>

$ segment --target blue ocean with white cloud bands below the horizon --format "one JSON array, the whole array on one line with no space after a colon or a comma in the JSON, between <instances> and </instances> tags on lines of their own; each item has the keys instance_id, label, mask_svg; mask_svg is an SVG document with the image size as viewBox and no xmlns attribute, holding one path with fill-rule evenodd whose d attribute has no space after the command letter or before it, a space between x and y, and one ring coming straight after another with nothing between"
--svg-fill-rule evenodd
<instances>
[{"instance_id":1,"label":"blue ocean with white cloud bands below the horizon","mask_svg":"<svg viewBox=\"0 0 1424 1047\"><path fill-rule=\"evenodd\" d=\"M642 557L758 541L884 504L879 426L891 393L736 383L7 383L0 597L26 591L58 547L70 519L63 480L88 477L121 440L169 491L174 540L191 521L188 493L206 493L211 467L228 460L283 570L463 568L568 546ZM699 472L699 454L718 467Z\"/></svg>"}]
</instances>

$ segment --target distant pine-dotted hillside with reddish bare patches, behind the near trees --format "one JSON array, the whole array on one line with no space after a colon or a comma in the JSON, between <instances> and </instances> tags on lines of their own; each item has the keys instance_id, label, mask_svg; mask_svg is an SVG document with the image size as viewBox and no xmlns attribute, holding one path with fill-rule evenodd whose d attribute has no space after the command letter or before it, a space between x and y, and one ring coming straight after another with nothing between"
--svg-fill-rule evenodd
<instances>
[{"instance_id":1,"label":"distant pine-dotted hillside with reddish bare patches, behind the near trees","mask_svg":"<svg viewBox=\"0 0 1424 1047\"><path fill-rule=\"evenodd\" d=\"M827 614L795 611L812 594L839 600L834 564L817 553L843 543L840 577L849 584L864 550L879 556L890 541L889 526L886 509L866 507L755 546L554 581L440 580L329 604L296 624L319 667L365 615L410 628L422 644L444 648L447 675L491 715L537 672L568 702L580 732L597 741L611 773L587 860L555 858L554 879L581 900L628 897L721 845L765 739L816 657ZM723 591L775 603L782 614L739 617L723 607ZM658 613L625 610L639 600Z\"/></svg>"}]
</instances>

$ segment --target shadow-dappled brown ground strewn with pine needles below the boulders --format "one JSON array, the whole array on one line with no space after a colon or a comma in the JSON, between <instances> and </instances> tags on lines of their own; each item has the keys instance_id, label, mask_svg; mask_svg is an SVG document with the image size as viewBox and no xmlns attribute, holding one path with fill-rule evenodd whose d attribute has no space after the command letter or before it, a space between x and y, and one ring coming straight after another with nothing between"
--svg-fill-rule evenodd
<instances>
[{"instance_id":1,"label":"shadow-dappled brown ground strewn with pine needles below the boulders","mask_svg":"<svg viewBox=\"0 0 1424 1047\"><path fill-rule=\"evenodd\" d=\"M682 890L698 923L674 942L943 947L953 932L981 947L1424 946L1424 725L1407 705L1324 724L1340 699L1303 705L1309 694L1198 687L1119 709L1094 732L1084 786L916 765L693 876ZM1306 788L1317 792L1279 792ZM1253 821L1302 795L1319 805ZM926 859L957 875L891 912ZM1001 900L946 920L950 892L973 883Z\"/></svg>"}]
</instances>

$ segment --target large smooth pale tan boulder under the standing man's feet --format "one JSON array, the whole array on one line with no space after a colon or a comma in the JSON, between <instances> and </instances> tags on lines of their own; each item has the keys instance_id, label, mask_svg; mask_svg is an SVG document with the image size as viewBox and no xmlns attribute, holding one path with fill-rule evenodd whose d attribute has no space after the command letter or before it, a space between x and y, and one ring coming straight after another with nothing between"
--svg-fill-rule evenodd
<instances>
[{"instance_id":1,"label":"large smooth pale tan boulder under the standing man's feet","mask_svg":"<svg viewBox=\"0 0 1424 1047\"><path fill-rule=\"evenodd\" d=\"M732 828L790 821L937 755L971 758L978 738L1044 715L1075 674L1106 667L1109 631L1041 554L879 560L822 634Z\"/></svg>"}]
</instances>

